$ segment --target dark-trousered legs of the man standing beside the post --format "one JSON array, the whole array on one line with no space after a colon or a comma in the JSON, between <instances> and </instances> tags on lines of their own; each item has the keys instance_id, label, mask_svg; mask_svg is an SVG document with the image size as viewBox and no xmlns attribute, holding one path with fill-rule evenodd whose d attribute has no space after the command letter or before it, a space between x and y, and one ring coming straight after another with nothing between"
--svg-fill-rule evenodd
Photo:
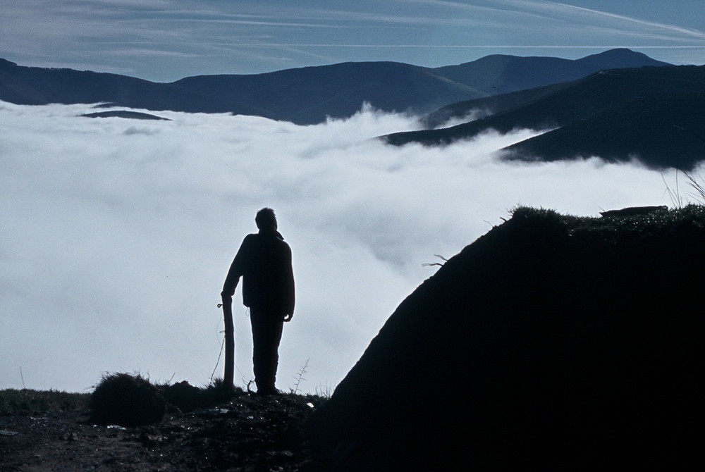
<instances>
[{"instance_id":1,"label":"dark-trousered legs of the man standing beside the post","mask_svg":"<svg viewBox=\"0 0 705 472\"><path fill-rule=\"evenodd\" d=\"M264 395L276 392L276 368L278 366L279 342L283 330L283 322L265 313L250 309L252 323L252 364L255 372L257 392Z\"/></svg>"}]
</instances>

